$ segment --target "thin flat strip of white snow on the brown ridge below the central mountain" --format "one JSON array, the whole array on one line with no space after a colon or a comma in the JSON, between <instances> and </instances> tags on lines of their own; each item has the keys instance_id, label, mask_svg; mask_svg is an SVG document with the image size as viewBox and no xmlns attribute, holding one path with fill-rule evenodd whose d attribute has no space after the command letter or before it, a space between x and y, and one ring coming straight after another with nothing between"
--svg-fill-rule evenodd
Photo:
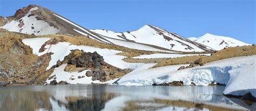
<instances>
[{"instance_id":1,"label":"thin flat strip of white snow on the brown ridge below the central mountain","mask_svg":"<svg viewBox=\"0 0 256 111\"><path fill-rule=\"evenodd\" d=\"M140 55L132 58L174 58L174 57L197 56L197 55L210 56L211 54L151 54L151 55Z\"/></svg>"}]
</instances>

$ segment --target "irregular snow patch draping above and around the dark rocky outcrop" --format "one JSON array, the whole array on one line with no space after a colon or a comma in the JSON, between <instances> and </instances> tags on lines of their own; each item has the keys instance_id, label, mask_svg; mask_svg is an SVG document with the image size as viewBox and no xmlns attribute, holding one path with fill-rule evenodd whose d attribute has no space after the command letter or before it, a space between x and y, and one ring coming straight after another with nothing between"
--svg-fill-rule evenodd
<instances>
[{"instance_id":1,"label":"irregular snow patch draping above and around the dark rocky outcrop","mask_svg":"<svg viewBox=\"0 0 256 111\"><path fill-rule=\"evenodd\" d=\"M76 46L76 45L70 45L69 42L59 42L56 45L46 45L45 46L46 50L44 50L42 53L38 53L39 47L37 45L41 45L42 41L45 41L45 39L46 38L24 39L23 43L25 45L30 46L33 50L37 50L37 53L35 52L34 54L37 54L38 56L41 56L43 54L50 53L50 52L53 53L51 55L51 61L49 63L49 66L47 67L47 70L50 69L51 66L55 65L58 60L60 61L64 60L64 57L66 55L69 55L69 53L71 52L70 50L74 50L74 49L84 50L85 52L90 52L90 53L97 51L99 55L103 56L104 61L106 63L109 63L121 69L136 69L140 67L140 65L144 64L144 63L127 63L123 61L122 59L125 58L125 56L116 55L117 53L122 52L119 50L101 49L101 48L90 47L90 46Z\"/></svg>"}]
</instances>

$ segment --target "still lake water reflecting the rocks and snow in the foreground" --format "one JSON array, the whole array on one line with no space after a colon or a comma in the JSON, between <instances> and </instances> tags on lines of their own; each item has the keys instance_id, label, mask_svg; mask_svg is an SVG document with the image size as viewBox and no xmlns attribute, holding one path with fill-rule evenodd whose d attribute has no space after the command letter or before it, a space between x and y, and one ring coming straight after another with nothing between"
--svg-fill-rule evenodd
<instances>
[{"instance_id":1,"label":"still lake water reflecting the rocks and snow in the foreground","mask_svg":"<svg viewBox=\"0 0 256 111\"><path fill-rule=\"evenodd\" d=\"M56 85L0 87L0 110L256 110L225 86Z\"/></svg>"}]
</instances>

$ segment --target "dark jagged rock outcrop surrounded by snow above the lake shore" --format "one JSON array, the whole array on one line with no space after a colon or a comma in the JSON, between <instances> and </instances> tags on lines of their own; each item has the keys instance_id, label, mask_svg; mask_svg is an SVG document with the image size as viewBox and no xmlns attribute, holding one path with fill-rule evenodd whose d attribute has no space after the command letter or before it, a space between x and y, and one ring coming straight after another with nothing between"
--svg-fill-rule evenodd
<instances>
[{"instance_id":1,"label":"dark jagged rock outcrop surrounded by snow above the lake shore","mask_svg":"<svg viewBox=\"0 0 256 111\"><path fill-rule=\"evenodd\" d=\"M97 52L86 53L78 49L71 50L71 53L65 56L61 63L68 64L64 71L77 71L81 70L81 68L82 70L89 69L91 71L87 71L85 75L92 77L92 80L100 80L101 82L121 77L131 71L130 69L118 69L107 64Z\"/></svg>"}]
</instances>

